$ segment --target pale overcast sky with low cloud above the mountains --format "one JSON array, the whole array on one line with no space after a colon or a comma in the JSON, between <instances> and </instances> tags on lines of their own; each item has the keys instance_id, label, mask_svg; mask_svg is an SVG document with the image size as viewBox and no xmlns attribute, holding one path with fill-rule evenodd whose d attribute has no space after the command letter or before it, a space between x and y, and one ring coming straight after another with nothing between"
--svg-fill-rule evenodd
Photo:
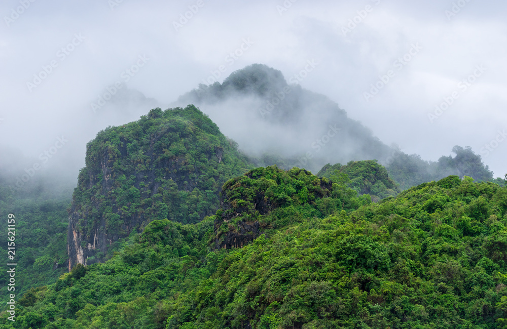
<instances>
[{"instance_id":1,"label":"pale overcast sky with low cloud above the mountains","mask_svg":"<svg viewBox=\"0 0 507 329\"><path fill-rule=\"evenodd\" d=\"M289 80L313 61L301 86L384 143L427 160L471 146L507 173L504 1L4 0L0 14L0 143L28 156L63 137L54 157L83 166L98 130L149 111L101 116L115 83L165 108L213 74L262 63Z\"/></svg>"}]
</instances>

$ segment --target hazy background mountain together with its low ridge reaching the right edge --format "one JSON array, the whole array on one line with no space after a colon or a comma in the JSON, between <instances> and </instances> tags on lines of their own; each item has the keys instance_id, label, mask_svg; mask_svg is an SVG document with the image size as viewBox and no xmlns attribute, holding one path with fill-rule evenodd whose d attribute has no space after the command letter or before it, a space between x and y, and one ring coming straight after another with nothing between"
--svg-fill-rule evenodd
<instances>
[{"instance_id":1,"label":"hazy background mountain together with its low ridge reaching the right edge","mask_svg":"<svg viewBox=\"0 0 507 329\"><path fill-rule=\"evenodd\" d=\"M316 173L326 163L375 159L402 190L449 175L493 180L481 156L469 147L455 146L454 158L442 156L438 161L405 154L384 144L328 97L303 89L293 79L289 82L279 70L252 64L231 73L222 84L199 85L173 105L198 106L256 166Z\"/></svg>"}]
</instances>

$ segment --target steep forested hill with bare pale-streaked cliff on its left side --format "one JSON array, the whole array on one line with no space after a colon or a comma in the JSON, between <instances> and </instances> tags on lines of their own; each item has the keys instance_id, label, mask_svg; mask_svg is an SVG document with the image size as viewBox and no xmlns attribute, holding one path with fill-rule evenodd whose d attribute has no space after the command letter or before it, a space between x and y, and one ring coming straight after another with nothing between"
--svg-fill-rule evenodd
<instances>
[{"instance_id":1,"label":"steep forested hill with bare pale-streaked cliff on its left side","mask_svg":"<svg viewBox=\"0 0 507 329\"><path fill-rule=\"evenodd\" d=\"M221 186L248 168L233 141L194 106L110 127L88 143L69 210L69 270L153 220L197 223L214 214Z\"/></svg>"}]
</instances>

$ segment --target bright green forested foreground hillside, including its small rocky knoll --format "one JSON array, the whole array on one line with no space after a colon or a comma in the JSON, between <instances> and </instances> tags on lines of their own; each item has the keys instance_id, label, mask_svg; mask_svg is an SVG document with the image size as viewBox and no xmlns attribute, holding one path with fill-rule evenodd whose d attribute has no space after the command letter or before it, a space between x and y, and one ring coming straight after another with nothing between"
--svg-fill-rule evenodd
<instances>
[{"instance_id":1,"label":"bright green forested foreground hillside, including its small rocky knoll","mask_svg":"<svg viewBox=\"0 0 507 329\"><path fill-rule=\"evenodd\" d=\"M214 249L213 226L231 209L219 209L198 224L156 220L106 263L78 265L56 283L32 290L18 305L17 321L6 321L4 313L2 323L6 328L507 324L507 188L450 176L378 203L355 191L340 192L347 190L299 169L252 170L228 181L222 194L229 201L224 204L236 202L226 216L229 223L245 216L272 219L272 229L252 243ZM265 215L253 211L258 203L252 193L259 191L265 204L276 203ZM343 200L350 207L341 207ZM324 202L330 207L323 212ZM291 211L300 206L307 210L304 216Z\"/></svg>"}]
</instances>

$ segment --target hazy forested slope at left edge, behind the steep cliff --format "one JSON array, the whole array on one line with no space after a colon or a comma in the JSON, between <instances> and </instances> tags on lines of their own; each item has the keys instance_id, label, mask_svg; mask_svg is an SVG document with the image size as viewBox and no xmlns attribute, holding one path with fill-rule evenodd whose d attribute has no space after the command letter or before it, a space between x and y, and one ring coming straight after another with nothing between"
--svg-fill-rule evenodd
<instances>
[{"instance_id":1,"label":"hazy forested slope at left edge, behind the steep cliff","mask_svg":"<svg viewBox=\"0 0 507 329\"><path fill-rule=\"evenodd\" d=\"M0 240L3 241L0 253L7 260L7 218L12 213L16 221L14 260L18 264L15 292L18 297L30 287L54 283L67 270L67 208L72 190L61 182L52 186L39 178L34 178L37 184L16 192L0 177ZM0 272L0 309L9 300L8 282L8 273Z\"/></svg>"}]
</instances>

